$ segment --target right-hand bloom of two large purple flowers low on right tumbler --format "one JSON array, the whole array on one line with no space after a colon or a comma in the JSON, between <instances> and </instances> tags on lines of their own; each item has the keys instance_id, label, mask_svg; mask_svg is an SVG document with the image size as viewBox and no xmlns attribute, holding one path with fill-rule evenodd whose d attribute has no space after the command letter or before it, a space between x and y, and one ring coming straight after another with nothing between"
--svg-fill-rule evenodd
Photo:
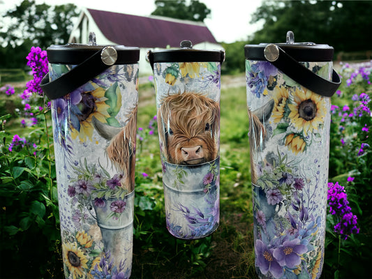
<instances>
[{"instance_id":1,"label":"right-hand bloom of two large purple flowers low on right tumbler","mask_svg":"<svg viewBox=\"0 0 372 279\"><path fill-rule=\"evenodd\" d=\"M295 266L301 264L300 255L307 252L307 247L300 243L299 239L284 241L283 245L276 248L273 252L275 259L281 266L287 266L294 269Z\"/></svg>"}]
</instances>

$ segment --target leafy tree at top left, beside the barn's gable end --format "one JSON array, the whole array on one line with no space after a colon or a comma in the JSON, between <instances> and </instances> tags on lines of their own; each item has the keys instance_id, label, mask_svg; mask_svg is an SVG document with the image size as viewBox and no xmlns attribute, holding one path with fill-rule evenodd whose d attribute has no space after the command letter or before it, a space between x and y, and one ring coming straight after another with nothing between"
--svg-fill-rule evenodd
<instances>
[{"instance_id":1,"label":"leafy tree at top left, beside the barn's gable end","mask_svg":"<svg viewBox=\"0 0 372 279\"><path fill-rule=\"evenodd\" d=\"M51 7L45 3L36 5L35 0L24 0L14 10L8 10L4 19L8 26L1 31L1 45L15 47L24 40L45 49L53 44L64 44L77 17L74 4Z\"/></svg>"}]
</instances>

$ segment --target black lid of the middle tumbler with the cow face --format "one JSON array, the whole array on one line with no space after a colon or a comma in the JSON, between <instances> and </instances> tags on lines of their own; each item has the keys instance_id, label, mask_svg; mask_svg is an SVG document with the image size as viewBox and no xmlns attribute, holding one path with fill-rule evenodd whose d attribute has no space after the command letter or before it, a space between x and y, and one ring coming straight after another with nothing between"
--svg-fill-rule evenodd
<instances>
[{"instance_id":1,"label":"black lid of the middle tumbler with the cow face","mask_svg":"<svg viewBox=\"0 0 372 279\"><path fill-rule=\"evenodd\" d=\"M149 50L147 59L154 67L154 63L161 62L220 62L225 61L224 50L197 50L193 49L190 40L182 40L179 49Z\"/></svg>"}]
</instances>

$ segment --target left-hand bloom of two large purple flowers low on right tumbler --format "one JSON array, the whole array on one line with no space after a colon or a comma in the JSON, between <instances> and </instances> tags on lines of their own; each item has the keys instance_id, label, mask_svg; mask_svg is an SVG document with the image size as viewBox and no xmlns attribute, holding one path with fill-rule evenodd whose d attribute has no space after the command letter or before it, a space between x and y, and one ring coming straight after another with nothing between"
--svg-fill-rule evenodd
<instances>
[{"instance_id":1,"label":"left-hand bloom of two large purple flowers low on right tumbler","mask_svg":"<svg viewBox=\"0 0 372 279\"><path fill-rule=\"evenodd\" d=\"M263 275L266 275L269 271L274 278L281 278L284 271L280 264L276 261L273 255L274 249L269 249L258 239L255 241L255 264L260 268Z\"/></svg>"}]
</instances>

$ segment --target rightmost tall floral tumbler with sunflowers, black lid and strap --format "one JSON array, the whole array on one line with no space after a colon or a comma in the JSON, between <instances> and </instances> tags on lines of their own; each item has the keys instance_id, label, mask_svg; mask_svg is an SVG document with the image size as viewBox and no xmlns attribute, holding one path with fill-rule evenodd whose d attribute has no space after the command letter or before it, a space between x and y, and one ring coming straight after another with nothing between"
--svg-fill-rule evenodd
<instances>
[{"instance_id":1,"label":"rightmost tall floral tumbler with sunflowers, black lid and strap","mask_svg":"<svg viewBox=\"0 0 372 279\"><path fill-rule=\"evenodd\" d=\"M327 215L328 45L246 45L255 267L260 278L319 278Z\"/></svg>"}]
</instances>

